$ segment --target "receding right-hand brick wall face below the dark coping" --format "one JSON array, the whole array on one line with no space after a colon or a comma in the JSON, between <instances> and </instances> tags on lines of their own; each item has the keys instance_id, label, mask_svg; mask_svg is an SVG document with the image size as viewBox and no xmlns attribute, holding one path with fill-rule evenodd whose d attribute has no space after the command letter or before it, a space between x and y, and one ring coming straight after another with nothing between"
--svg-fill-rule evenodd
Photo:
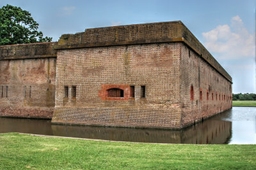
<instances>
[{"instance_id":1,"label":"receding right-hand brick wall face below the dark coping","mask_svg":"<svg viewBox=\"0 0 256 170\"><path fill-rule=\"evenodd\" d=\"M232 84L230 81L221 76L186 45L181 47L180 66L180 96L181 102L184 103L184 108L181 111L182 127L232 107ZM193 85L195 93L193 100L191 100L191 85ZM202 90L202 100L200 100L200 90ZM220 94L229 98L219 99Z\"/></svg>"}]
</instances>

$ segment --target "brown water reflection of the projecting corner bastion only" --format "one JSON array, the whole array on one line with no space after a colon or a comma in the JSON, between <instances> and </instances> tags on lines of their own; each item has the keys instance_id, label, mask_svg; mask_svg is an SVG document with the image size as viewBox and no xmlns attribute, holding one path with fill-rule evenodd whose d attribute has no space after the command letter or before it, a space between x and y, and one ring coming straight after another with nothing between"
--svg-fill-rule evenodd
<instances>
[{"instance_id":1,"label":"brown water reflection of the projecting corner bastion only","mask_svg":"<svg viewBox=\"0 0 256 170\"><path fill-rule=\"evenodd\" d=\"M182 131L52 125L52 133L55 136L143 143L223 144L231 137L231 127L232 122L221 120L206 120Z\"/></svg>"}]
</instances>

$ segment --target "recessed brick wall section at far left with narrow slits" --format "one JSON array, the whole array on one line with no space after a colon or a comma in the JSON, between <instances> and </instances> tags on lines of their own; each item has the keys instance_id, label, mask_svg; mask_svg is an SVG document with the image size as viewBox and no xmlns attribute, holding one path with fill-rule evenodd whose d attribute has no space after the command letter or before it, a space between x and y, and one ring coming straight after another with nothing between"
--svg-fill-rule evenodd
<instances>
[{"instance_id":1,"label":"recessed brick wall section at far left with narrow slits","mask_svg":"<svg viewBox=\"0 0 256 170\"><path fill-rule=\"evenodd\" d=\"M31 44L33 48L37 45L38 43ZM39 54L41 47L39 43L39 46L33 49L33 53ZM6 49L9 49L9 53L14 52L12 55L5 53L4 56L15 59L0 60L0 116L51 118L55 106L56 57L40 57L49 54L45 51L34 56L35 59L20 59L20 56L29 54L21 50L29 51L29 45L3 48L4 50L0 47L2 53L6 52Z\"/></svg>"}]
</instances>

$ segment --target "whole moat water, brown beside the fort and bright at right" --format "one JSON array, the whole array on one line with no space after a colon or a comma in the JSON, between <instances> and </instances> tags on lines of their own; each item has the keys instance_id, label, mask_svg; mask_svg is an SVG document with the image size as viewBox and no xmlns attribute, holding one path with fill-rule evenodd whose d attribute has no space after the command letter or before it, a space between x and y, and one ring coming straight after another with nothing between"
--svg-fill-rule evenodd
<instances>
[{"instance_id":1,"label":"whole moat water, brown beside the fort and bright at right","mask_svg":"<svg viewBox=\"0 0 256 170\"><path fill-rule=\"evenodd\" d=\"M256 144L256 108L234 107L180 131L52 125L51 120L0 118L0 133L182 144Z\"/></svg>"}]
</instances>

